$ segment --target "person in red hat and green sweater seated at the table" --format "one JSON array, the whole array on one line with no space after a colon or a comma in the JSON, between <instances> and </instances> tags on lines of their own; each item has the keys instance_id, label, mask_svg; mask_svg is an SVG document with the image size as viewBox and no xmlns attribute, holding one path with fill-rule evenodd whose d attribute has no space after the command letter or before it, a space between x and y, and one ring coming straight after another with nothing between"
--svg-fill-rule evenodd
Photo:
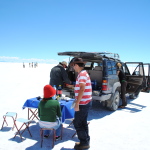
<instances>
[{"instance_id":1,"label":"person in red hat and green sweater seated at the table","mask_svg":"<svg viewBox=\"0 0 150 150\"><path fill-rule=\"evenodd\" d=\"M60 138L61 131L61 109L57 100L52 99L56 90L51 85L45 85L44 98L38 106L38 116L40 118L39 126L41 128L54 128L56 130L56 140ZM48 138L50 130L44 131L44 137Z\"/></svg>"}]
</instances>

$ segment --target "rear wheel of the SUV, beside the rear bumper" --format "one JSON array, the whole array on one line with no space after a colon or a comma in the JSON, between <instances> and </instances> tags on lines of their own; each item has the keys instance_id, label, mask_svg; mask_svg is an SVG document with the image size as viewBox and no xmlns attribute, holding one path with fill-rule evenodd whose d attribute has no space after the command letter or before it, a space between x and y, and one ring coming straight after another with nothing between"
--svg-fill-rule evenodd
<instances>
[{"instance_id":1,"label":"rear wheel of the SUV, beside the rear bumper","mask_svg":"<svg viewBox=\"0 0 150 150\"><path fill-rule=\"evenodd\" d=\"M116 91L112 98L112 105L110 107L110 110L117 110L119 103L120 103L120 94L118 91Z\"/></svg>"}]
</instances>

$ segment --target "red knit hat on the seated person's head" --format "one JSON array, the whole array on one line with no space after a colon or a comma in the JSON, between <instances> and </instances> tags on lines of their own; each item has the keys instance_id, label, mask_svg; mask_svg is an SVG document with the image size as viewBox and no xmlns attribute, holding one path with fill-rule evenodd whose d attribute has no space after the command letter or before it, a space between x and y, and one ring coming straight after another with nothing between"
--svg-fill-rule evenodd
<instances>
[{"instance_id":1,"label":"red knit hat on the seated person's head","mask_svg":"<svg viewBox=\"0 0 150 150\"><path fill-rule=\"evenodd\" d=\"M45 85L43 91L44 98L50 98L56 94L56 90L51 85Z\"/></svg>"}]
</instances>

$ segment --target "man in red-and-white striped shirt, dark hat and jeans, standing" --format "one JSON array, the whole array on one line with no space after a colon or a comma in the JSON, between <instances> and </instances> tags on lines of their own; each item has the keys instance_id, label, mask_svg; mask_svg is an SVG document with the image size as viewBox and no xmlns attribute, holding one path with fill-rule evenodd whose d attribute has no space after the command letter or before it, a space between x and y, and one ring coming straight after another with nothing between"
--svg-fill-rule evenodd
<instances>
[{"instance_id":1,"label":"man in red-and-white striped shirt, dark hat and jeans, standing","mask_svg":"<svg viewBox=\"0 0 150 150\"><path fill-rule=\"evenodd\" d=\"M90 136L87 124L87 117L92 100L91 79L84 70L82 58L75 58L71 63L74 70L78 73L75 85L75 115L73 124L80 142L76 142L74 149L88 149L90 147Z\"/></svg>"}]
</instances>

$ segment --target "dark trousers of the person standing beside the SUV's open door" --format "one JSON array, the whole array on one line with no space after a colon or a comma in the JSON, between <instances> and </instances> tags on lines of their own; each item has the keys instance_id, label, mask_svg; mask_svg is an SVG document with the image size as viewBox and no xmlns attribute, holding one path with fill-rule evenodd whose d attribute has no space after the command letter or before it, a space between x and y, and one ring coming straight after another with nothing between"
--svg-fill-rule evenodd
<instances>
[{"instance_id":1,"label":"dark trousers of the person standing beside the SUV's open door","mask_svg":"<svg viewBox=\"0 0 150 150\"><path fill-rule=\"evenodd\" d=\"M121 99L122 99L122 105L126 106L127 105L127 100L126 100L126 87L127 87L127 82L121 82Z\"/></svg>"}]
</instances>

